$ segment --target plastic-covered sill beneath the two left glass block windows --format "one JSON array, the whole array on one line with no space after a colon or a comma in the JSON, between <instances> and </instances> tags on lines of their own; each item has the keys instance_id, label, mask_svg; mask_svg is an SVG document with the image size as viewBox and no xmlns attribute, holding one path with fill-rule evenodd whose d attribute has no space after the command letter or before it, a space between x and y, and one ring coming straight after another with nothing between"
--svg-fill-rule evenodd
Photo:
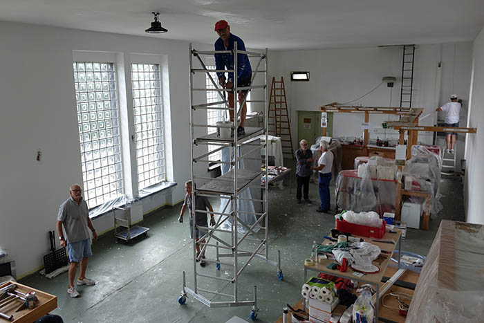
<instances>
[{"instance_id":1,"label":"plastic-covered sill beneath the two left glass block windows","mask_svg":"<svg viewBox=\"0 0 484 323\"><path fill-rule=\"evenodd\" d=\"M153 185L153 187L147 187L144 190L140 191L140 196L134 199L128 199L127 196L123 195L118 197L118 199L111 200L107 203L102 205L98 205L97 207L93 207L89 210L89 218L91 220L97 219L100 216L104 216L113 212L114 207L127 207L128 204L134 203L136 201L140 201L142 199L146 199L149 196L153 196L154 194L158 194L165 190L168 190L170 187L174 187L178 185L176 182L162 182L158 185Z\"/></svg>"}]
</instances>

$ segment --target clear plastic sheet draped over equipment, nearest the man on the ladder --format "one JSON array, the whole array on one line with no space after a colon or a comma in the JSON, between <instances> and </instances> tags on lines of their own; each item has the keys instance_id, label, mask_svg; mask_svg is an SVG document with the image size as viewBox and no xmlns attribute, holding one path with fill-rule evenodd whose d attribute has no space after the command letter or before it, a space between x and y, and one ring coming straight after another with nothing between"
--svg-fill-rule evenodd
<instances>
[{"instance_id":1,"label":"clear plastic sheet draped over equipment, nearest the man on the ladder","mask_svg":"<svg viewBox=\"0 0 484 323\"><path fill-rule=\"evenodd\" d=\"M425 147L418 147L414 149L416 155L412 156L405 162L403 169L403 176L411 178L411 181L405 180L405 190L415 190L420 192L427 192L431 194L430 214L432 218L442 210L440 201L440 169L442 167L442 158L438 154L434 154ZM407 187L411 182L411 187ZM415 198L423 202L423 199Z\"/></svg>"}]
</instances>

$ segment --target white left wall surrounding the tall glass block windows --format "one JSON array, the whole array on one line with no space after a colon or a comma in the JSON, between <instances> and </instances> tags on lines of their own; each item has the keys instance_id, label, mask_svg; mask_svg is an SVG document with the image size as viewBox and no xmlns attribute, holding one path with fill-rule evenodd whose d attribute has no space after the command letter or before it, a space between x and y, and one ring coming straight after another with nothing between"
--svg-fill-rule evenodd
<instances>
[{"instance_id":1,"label":"white left wall surrounding the tall glass block windows","mask_svg":"<svg viewBox=\"0 0 484 323\"><path fill-rule=\"evenodd\" d=\"M82 183L73 87L73 50L166 55L169 113L176 145L167 156L172 194L143 201L145 212L183 199L189 178L188 43L93 33L26 24L0 23L0 246L10 250L17 274L42 265L48 230L54 230L68 186ZM36 161L37 149L41 160ZM102 232L112 219L95 219ZM28 243L21 241L28 239Z\"/></svg>"}]
</instances>

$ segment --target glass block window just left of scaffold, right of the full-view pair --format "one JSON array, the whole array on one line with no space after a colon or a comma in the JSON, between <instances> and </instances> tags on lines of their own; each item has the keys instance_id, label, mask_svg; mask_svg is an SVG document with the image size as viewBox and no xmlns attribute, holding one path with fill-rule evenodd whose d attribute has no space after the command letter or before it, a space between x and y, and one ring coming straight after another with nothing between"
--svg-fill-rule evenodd
<instances>
[{"instance_id":1,"label":"glass block window just left of scaffold, right of the full-view pair","mask_svg":"<svg viewBox=\"0 0 484 323\"><path fill-rule=\"evenodd\" d=\"M131 64L138 189L166 180L159 64Z\"/></svg>"}]
</instances>

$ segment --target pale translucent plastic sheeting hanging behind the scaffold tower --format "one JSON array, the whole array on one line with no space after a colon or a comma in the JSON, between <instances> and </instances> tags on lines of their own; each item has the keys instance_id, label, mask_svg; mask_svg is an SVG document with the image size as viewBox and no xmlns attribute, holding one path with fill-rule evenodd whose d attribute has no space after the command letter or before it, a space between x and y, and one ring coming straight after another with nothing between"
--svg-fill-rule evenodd
<instances>
[{"instance_id":1,"label":"pale translucent plastic sheeting hanging behind the scaffold tower","mask_svg":"<svg viewBox=\"0 0 484 323\"><path fill-rule=\"evenodd\" d=\"M230 147L226 147L221 150L222 151L222 158L221 160L223 162L230 162L231 156L230 156ZM241 156L241 151L240 148L237 149L237 154ZM239 160L239 169L244 168L244 160ZM222 170L222 175L225 174L226 172L229 172L231 169L230 165L227 164L221 164L221 170ZM253 225L257 221L257 216L255 214L246 214L246 213L241 213L241 212L255 212L254 209L254 203L252 201L246 201L252 199L252 194L250 193L250 188L246 188L240 194L238 195L239 199L243 200L237 200L237 210L239 212L237 213L237 216L243 223L247 224L248 226ZM231 213L234 211L234 207L232 206L232 201L230 199L221 199L220 202L220 207L218 209L218 212L221 213ZM221 225L221 228L223 230L232 230L232 217L229 217L227 221L224 221ZM254 231L257 232L259 229L254 228ZM242 225L237 225L237 232L239 233L245 233L247 232L247 229L244 228Z\"/></svg>"}]
</instances>

